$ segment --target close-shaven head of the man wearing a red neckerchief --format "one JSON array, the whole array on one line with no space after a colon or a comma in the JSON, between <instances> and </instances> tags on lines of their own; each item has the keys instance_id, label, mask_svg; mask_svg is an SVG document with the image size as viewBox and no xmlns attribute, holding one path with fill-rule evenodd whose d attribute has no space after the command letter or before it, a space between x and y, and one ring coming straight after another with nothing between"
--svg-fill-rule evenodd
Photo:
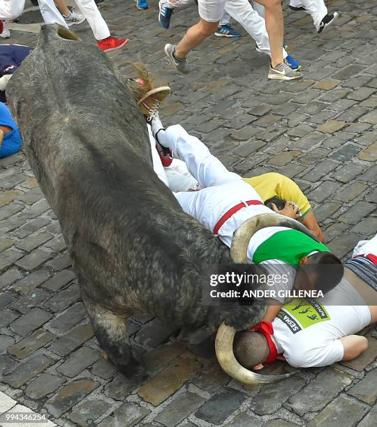
<instances>
[{"instance_id":1,"label":"close-shaven head of the man wearing a red neckerchief","mask_svg":"<svg viewBox=\"0 0 377 427\"><path fill-rule=\"evenodd\" d=\"M256 368L269 357L267 338L260 332L239 332L235 336L233 350L239 364L246 369Z\"/></svg>"}]
</instances>

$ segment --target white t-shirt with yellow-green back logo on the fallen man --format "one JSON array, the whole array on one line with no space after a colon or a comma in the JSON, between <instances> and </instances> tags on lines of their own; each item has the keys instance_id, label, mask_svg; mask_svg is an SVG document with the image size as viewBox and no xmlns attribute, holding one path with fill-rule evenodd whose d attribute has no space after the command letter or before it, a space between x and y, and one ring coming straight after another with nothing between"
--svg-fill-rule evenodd
<instances>
[{"instance_id":1,"label":"white t-shirt with yellow-green back logo on the fallen man","mask_svg":"<svg viewBox=\"0 0 377 427\"><path fill-rule=\"evenodd\" d=\"M343 278L323 298L286 301L272 323L272 340L292 366L327 366L343 359L339 338L356 334L370 322L367 304Z\"/></svg>"}]
</instances>

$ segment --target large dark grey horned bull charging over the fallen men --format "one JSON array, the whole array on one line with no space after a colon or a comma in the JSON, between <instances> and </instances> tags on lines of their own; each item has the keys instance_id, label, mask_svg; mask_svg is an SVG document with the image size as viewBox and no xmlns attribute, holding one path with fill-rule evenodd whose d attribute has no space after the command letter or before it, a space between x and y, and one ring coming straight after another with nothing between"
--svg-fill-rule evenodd
<instances>
[{"instance_id":1,"label":"large dark grey horned bull charging over the fallen men","mask_svg":"<svg viewBox=\"0 0 377 427\"><path fill-rule=\"evenodd\" d=\"M156 177L145 119L110 59L72 33L44 26L7 96L96 337L121 373L143 373L126 320L150 313L186 330L217 331L218 359L237 380L285 377L251 373L232 351L235 331L258 322L263 307L201 304L203 271L230 263L230 251ZM244 224L232 261L246 258L253 232L277 223L280 216L267 214Z\"/></svg>"}]
</instances>

